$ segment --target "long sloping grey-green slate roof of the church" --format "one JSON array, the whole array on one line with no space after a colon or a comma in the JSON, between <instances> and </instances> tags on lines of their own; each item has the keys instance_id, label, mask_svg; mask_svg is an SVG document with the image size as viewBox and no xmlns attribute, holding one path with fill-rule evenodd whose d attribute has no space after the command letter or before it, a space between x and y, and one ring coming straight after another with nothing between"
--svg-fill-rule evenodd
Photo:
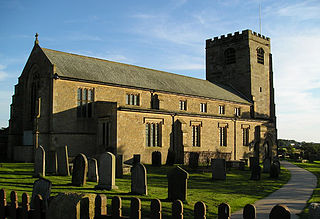
<instances>
[{"instance_id":1,"label":"long sloping grey-green slate roof of the church","mask_svg":"<svg viewBox=\"0 0 320 219\"><path fill-rule=\"evenodd\" d=\"M206 80L41 48L59 76L250 104L239 92Z\"/></svg>"}]
</instances>

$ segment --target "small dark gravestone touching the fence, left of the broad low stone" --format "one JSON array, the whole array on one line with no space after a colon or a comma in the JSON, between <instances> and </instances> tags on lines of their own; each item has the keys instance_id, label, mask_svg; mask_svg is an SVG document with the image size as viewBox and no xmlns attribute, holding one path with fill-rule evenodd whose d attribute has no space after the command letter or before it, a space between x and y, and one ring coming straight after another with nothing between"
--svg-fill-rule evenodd
<instances>
[{"instance_id":1,"label":"small dark gravestone touching the fence, left of the broad low stone","mask_svg":"<svg viewBox=\"0 0 320 219\"><path fill-rule=\"evenodd\" d=\"M42 200L45 203L45 209L48 208L48 199L51 193L52 183L50 180L40 178L34 181L33 189L32 189L32 196L31 196L31 208L34 207L34 199L37 195L41 195Z\"/></svg>"}]
</instances>

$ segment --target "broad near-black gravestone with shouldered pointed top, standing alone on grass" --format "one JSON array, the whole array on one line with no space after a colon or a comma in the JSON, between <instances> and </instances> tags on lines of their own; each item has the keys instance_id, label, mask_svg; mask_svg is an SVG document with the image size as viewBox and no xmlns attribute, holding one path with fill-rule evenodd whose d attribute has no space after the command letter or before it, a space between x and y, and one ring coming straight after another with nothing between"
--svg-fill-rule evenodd
<instances>
[{"instance_id":1,"label":"broad near-black gravestone with shouldered pointed top, standing alone on grass","mask_svg":"<svg viewBox=\"0 0 320 219\"><path fill-rule=\"evenodd\" d=\"M177 166L168 172L168 200L187 200L189 173Z\"/></svg>"}]
</instances>

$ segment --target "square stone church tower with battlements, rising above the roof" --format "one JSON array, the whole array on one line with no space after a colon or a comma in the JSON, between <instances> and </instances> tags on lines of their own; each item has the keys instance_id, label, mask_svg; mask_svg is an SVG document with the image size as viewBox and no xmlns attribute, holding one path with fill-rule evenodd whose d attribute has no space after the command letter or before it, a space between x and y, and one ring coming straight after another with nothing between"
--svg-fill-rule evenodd
<instances>
[{"instance_id":1,"label":"square stone church tower with battlements, rising above the roof","mask_svg":"<svg viewBox=\"0 0 320 219\"><path fill-rule=\"evenodd\" d=\"M253 102L251 117L275 122L270 39L251 30L206 41L206 79Z\"/></svg>"}]
</instances>

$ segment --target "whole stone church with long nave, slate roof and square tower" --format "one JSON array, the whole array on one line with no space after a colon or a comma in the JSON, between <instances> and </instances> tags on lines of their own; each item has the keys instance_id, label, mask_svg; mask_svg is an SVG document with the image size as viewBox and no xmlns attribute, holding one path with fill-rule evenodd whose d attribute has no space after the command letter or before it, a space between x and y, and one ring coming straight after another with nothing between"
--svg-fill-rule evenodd
<instances>
[{"instance_id":1,"label":"whole stone church with long nave, slate roof and square tower","mask_svg":"<svg viewBox=\"0 0 320 219\"><path fill-rule=\"evenodd\" d=\"M276 155L270 39L244 30L206 40L206 80L35 45L15 85L8 158L68 146L69 156L160 151L187 163Z\"/></svg>"}]
</instances>

